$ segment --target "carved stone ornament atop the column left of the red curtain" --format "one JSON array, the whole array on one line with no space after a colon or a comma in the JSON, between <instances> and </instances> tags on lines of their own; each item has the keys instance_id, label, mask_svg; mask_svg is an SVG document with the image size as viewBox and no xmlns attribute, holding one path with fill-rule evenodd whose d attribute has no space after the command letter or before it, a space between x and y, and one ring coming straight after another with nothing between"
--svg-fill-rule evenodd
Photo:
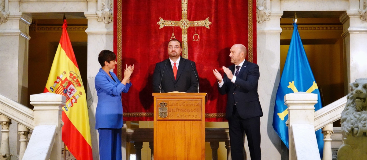
<instances>
[{"instance_id":1,"label":"carved stone ornament atop the column left of the red curtain","mask_svg":"<svg viewBox=\"0 0 367 160\"><path fill-rule=\"evenodd\" d=\"M113 19L112 7L112 0L102 0L102 9L96 12L98 15L97 21L103 21L106 24L111 23Z\"/></svg>"}]
</instances>

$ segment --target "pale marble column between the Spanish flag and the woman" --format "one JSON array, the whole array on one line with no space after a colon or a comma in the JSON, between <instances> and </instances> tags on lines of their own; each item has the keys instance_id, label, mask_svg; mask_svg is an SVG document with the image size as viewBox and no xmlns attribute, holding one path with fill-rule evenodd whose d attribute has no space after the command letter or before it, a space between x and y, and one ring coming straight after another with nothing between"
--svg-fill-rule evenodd
<instances>
[{"instance_id":1,"label":"pale marble column between the Spanish flag and the woman","mask_svg":"<svg viewBox=\"0 0 367 160\"><path fill-rule=\"evenodd\" d=\"M101 50L113 51L113 22L106 24L98 22L98 16L95 11L84 12L88 19L88 57L87 57L87 104L89 123L91 129L93 159L99 159L98 151L98 131L95 127L95 110L97 107L97 92L94 87L94 77L97 75L101 65L98 63L98 54ZM124 153L123 153L124 155ZM126 155L126 154L125 154Z\"/></svg>"}]
</instances>

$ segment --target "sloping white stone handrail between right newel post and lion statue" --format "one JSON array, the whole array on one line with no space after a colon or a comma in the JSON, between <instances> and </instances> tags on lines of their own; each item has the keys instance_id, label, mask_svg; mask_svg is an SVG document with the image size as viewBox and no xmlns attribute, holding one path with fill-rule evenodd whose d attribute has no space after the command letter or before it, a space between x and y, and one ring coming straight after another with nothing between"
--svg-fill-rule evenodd
<instances>
[{"instance_id":1,"label":"sloping white stone handrail between right newel post and lion statue","mask_svg":"<svg viewBox=\"0 0 367 160\"><path fill-rule=\"evenodd\" d=\"M336 100L329 105L315 111L315 131L326 125L333 123L341 118L341 113L344 110L347 98L346 96Z\"/></svg>"}]
</instances>

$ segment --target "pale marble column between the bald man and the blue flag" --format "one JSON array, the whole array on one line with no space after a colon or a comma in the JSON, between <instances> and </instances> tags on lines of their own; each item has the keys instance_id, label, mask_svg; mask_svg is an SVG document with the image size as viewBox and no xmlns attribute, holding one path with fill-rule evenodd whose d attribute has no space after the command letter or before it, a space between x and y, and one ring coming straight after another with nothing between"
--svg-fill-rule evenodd
<instances>
[{"instance_id":1,"label":"pale marble column between the bald man and the blue flag","mask_svg":"<svg viewBox=\"0 0 367 160\"><path fill-rule=\"evenodd\" d=\"M280 81L280 17L283 11L272 11L269 20L257 24L257 64L260 69L259 99L261 117L262 159L283 159L281 140L273 129L275 96ZM246 147L247 155L250 155ZM287 156L287 153L285 154ZM247 156L250 159L250 156Z\"/></svg>"}]
</instances>

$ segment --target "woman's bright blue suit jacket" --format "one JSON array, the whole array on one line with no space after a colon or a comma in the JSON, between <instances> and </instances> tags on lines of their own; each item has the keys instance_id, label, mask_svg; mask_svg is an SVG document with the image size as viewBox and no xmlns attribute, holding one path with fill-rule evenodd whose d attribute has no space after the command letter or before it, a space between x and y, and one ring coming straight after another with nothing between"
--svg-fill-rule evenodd
<instances>
[{"instance_id":1,"label":"woman's bright blue suit jacket","mask_svg":"<svg viewBox=\"0 0 367 160\"><path fill-rule=\"evenodd\" d=\"M100 68L95 76L94 83L98 96L95 111L95 129L119 129L123 126L121 92L127 93L131 83L124 85L115 73L110 72L110 75L113 79Z\"/></svg>"}]
</instances>

